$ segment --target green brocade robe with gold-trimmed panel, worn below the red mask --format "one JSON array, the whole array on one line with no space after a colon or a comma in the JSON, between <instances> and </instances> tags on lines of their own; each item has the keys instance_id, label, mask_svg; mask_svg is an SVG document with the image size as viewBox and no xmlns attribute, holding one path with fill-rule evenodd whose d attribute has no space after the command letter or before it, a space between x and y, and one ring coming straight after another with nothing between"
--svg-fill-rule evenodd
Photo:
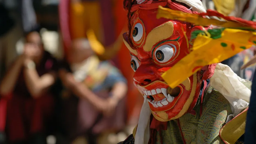
<instances>
[{"instance_id":1,"label":"green brocade robe with gold-trimmed panel, worn below the red mask","mask_svg":"<svg viewBox=\"0 0 256 144\"><path fill-rule=\"evenodd\" d=\"M251 83L243 84L251 89ZM243 143L238 139L245 132L247 109L226 124L228 116L233 114L230 103L221 93L209 87L203 96L202 115L200 103L194 110L195 115L187 113L179 119L168 121L167 130L157 132L155 144L183 144L184 141L186 144ZM135 133L123 144L133 144L134 136Z\"/></svg>"}]
</instances>

